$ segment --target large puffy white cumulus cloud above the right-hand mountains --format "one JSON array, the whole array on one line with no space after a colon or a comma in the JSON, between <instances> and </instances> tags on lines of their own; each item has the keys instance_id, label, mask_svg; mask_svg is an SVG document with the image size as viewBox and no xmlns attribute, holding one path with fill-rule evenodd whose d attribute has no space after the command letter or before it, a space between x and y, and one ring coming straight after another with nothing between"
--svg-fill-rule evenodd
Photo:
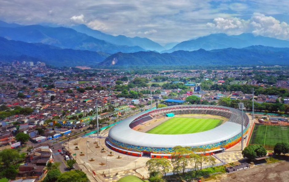
<instances>
[{"instance_id":1,"label":"large puffy white cumulus cloud above the right-hand mountains","mask_svg":"<svg viewBox=\"0 0 289 182\"><path fill-rule=\"evenodd\" d=\"M278 39L289 39L289 25L271 16L254 13L249 20L240 18L215 18L213 23L207 23L212 32L239 34L250 32L254 35L269 36Z\"/></svg>"}]
</instances>

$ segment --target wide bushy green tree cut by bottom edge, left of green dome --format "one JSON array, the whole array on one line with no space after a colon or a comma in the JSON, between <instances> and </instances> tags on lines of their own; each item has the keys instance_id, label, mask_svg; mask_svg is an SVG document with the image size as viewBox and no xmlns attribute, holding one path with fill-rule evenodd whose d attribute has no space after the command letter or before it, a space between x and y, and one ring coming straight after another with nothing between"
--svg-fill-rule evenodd
<instances>
[{"instance_id":1,"label":"wide bushy green tree cut by bottom edge, left of green dome","mask_svg":"<svg viewBox=\"0 0 289 182\"><path fill-rule=\"evenodd\" d=\"M62 173L58 176L56 182L87 182L89 181L86 174L79 170L72 170Z\"/></svg>"}]
</instances>

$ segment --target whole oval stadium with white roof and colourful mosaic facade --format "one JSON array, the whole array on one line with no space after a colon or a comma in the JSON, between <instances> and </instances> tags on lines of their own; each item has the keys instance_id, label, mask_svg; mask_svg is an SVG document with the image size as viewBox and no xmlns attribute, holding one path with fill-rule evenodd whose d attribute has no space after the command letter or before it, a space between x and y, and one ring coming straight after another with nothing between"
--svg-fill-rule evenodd
<instances>
[{"instance_id":1,"label":"whole oval stadium with white roof and colourful mosaic facade","mask_svg":"<svg viewBox=\"0 0 289 182\"><path fill-rule=\"evenodd\" d=\"M203 148L208 153L228 149L241 140L249 118L240 110L212 105L177 105L141 112L115 125L106 145L132 156L170 158L175 146Z\"/></svg>"}]
</instances>

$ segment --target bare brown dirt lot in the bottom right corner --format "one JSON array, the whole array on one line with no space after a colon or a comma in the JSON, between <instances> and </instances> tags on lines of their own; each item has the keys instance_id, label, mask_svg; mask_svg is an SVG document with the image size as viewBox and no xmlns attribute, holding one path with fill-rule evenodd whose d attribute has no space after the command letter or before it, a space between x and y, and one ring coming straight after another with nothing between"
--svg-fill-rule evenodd
<instances>
[{"instance_id":1,"label":"bare brown dirt lot in the bottom right corner","mask_svg":"<svg viewBox=\"0 0 289 182\"><path fill-rule=\"evenodd\" d=\"M211 182L288 182L289 181L289 162L282 161L268 165L257 166L254 168L238 171L231 174L217 176Z\"/></svg>"}]
</instances>

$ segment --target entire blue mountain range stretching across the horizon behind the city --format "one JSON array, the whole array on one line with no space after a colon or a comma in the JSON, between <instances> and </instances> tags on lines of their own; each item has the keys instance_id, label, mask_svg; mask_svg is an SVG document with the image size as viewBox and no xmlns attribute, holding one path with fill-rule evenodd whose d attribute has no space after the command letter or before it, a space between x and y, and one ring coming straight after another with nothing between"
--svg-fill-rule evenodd
<instances>
[{"instance_id":1,"label":"entire blue mountain range stretching across the horizon behind the city","mask_svg":"<svg viewBox=\"0 0 289 182\"><path fill-rule=\"evenodd\" d=\"M289 48L282 47L289 47L289 41L250 33L211 34L162 47L147 38L112 36L85 25L66 28L0 21L1 62L42 61L60 67L289 65ZM169 50L156 51L163 49Z\"/></svg>"}]
</instances>

